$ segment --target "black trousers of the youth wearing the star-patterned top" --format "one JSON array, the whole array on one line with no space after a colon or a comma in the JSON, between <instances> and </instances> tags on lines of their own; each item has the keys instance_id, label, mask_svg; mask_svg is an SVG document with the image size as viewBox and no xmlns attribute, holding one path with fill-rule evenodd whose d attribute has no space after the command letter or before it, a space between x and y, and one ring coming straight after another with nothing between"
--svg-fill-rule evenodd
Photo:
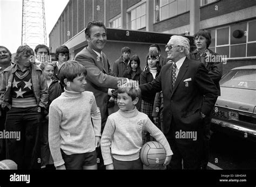
<instances>
[{"instance_id":1,"label":"black trousers of the youth wearing the star-patterned top","mask_svg":"<svg viewBox=\"0 0 256 187\"><path fill-rule=\"evenodd\" d=\"M18 169L40 169L40 132L42 114L37 106L25 109L12 107L6 113L5 128L20 132L20 140L6 139L6 159L17 163Z\"/></svg>"}]
</instances>

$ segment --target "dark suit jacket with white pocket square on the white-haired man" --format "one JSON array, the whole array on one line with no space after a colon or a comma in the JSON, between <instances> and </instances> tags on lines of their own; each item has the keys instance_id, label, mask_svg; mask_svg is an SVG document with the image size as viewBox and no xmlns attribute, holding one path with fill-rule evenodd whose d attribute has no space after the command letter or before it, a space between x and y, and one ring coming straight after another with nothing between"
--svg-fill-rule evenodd
<instances>
[{"instance_id":1,"label":"dark suit jacket with white pocket square on the white-haired man","mask_svg":"<svg viewBox=\"0 0 256 187\"><path fill-rule=\"evenodd\" d=\"M160 92L164 97L163 133L168 133L172 119L178 131L197 131L203 128L200 112L209 114L218 96L218 90L203 63L185 59L172 88L172 63L161 68L151 83L139 85L142 95L148 91ZM205 99L203 97L205 96Z\"/></svg>"}]
</instances>

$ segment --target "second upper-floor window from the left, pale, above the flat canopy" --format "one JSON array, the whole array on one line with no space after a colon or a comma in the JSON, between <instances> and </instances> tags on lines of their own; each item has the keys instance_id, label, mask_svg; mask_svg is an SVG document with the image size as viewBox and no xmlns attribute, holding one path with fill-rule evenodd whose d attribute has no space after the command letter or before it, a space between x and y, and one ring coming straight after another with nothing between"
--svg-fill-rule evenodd
<instances>
[{"instance_id":1,"label":"second upper-floor window from the left, pale, above the flat canopy","mask_svg":"<svg viewBox=\"0 0 256 187\"><path fill-rule=\"evenodd\" d=\"M138 30L146 26L146 3L127 12L127 28Z\"/></svg>"}]
</instances>

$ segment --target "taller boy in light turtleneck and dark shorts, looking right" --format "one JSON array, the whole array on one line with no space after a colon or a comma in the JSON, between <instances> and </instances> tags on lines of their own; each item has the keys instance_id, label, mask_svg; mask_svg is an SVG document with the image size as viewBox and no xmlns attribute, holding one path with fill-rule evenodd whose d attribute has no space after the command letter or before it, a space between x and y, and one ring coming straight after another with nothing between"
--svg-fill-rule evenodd
<instances>
[{"instance_id":1,"label":"taller boy in light turtleneck and dark shorts, looking right","mask_svg":"<svg viewBox=\"0 0 256 187\"><path fill-rule=\"evenodd\" d=\"M101 117L95 96L85 91L86 75L77 61L59 69L65 88L49 109L49 146L56 169L97 169Z\"/></svg>"}]
</instances>

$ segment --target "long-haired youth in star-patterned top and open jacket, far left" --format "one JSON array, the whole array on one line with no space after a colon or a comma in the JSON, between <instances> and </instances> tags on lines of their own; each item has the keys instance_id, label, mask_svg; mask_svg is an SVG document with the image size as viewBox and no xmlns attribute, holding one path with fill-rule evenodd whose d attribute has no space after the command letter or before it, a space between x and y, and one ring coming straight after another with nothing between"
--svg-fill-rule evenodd
<instances>
[{"instance_id":1,"label":"long-haired youth in star-patterned top and open jacket, far left","mask_svg":"<svg viewBox=\"0 0 256 187\"><path fill-rule=\"evenodd\" d=\"M16 133L6 139L6 159L18 169L40 169L42 117L47 114L48 88L42 70L28 45L19 46L15 64L2 73L1 100L6 111L5 130Z\"/></svg>"}]
</instances>

